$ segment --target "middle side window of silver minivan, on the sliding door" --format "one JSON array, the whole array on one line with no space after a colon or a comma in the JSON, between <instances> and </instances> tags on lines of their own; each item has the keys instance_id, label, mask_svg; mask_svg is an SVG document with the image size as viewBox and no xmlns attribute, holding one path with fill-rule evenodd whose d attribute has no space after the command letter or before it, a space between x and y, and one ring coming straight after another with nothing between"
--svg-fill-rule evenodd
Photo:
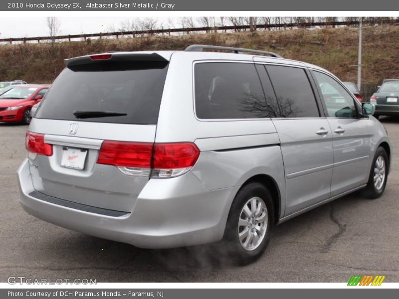
<instances>
[{"instance_id":1,"label":"middle side window of silver minivan, on the sliding door","mask_svg":"<svg viewBox=\"0 0 399 299\"><path fill-rule=\"evenodd\" d=\"M320 117L308 76L302 68L268 65L282 117Z\"/></svg>"}]
</instances>

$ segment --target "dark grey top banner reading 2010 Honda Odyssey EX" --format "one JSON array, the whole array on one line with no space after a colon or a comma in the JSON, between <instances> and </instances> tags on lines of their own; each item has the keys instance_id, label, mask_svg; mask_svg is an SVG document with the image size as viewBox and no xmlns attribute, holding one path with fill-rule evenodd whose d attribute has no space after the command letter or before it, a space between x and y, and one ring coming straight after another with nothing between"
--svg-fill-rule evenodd
<instances>
[{"instance_id":1,"label":"dark grey top banner reading 2010 Honda Odyssey EX","mask_svg":"<svg viewBox=\"0 0 399 299\"><path fill-rule=\"evenodd\" d=\"M393 0L25 0L0 2L2 11L398 11Z\"/></svg>"}]
</instances>

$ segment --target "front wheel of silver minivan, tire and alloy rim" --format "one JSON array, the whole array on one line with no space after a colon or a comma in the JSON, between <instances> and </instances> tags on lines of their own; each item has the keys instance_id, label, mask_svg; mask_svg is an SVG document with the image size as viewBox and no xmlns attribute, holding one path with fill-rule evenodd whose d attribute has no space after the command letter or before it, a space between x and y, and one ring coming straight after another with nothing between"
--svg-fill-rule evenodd
<instances>
[{"instance_id":1,"label":"front wheel of silver minivan, tire and alloy rim","mask_svg":"<svg viewBox=\"0 0 399 299\"><path fill-rule=\"evenodd\" d=\"M388 154L384 148L379 147L374 155L370 169L369 181L362 195L366 198L376 199L383 195L387 185L388 172L390 169ZM377 176L375 180L374 177Z\"/></svg>"}]
</instances>

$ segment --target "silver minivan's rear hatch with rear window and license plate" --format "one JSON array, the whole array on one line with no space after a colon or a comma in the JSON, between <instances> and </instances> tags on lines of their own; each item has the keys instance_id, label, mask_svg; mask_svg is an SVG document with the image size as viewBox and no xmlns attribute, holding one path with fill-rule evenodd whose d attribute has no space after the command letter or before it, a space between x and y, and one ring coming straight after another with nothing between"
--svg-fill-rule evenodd
<instances>
[{"instance_id":1,"label":"silver minivan's rear hatch with rear window and license plate","mask_svg":"<svg viewBox=\"0 0 399 299\"><path fill-rule=\"evenodd\" d=\"M132 211L150 173L118 167L110 157L126 143L154 143L171 55L112 53L66 60L29 127L33 146L43 139L52 148L48 155L29 153L35 190ZM141 152L129 154L139 158Z\"/></svg>"}]
</instances>

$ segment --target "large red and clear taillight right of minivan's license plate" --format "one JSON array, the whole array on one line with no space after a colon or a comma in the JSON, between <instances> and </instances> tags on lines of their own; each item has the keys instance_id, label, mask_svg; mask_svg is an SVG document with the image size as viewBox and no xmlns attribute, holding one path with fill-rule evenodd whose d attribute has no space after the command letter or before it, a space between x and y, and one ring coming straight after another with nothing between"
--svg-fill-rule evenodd
<instances>
[{"instance_id":1,"label":"large red and clear taillight right of minivan's license plate","mask_svg":"<svg viewBox=\"0 0 399 299\"><path fill-rule=\"evenodd\" d=\"M117 166L128 175L174 177L194 166L200 150L193 143L104 141L97 163Z\"/></svg>"}]
</instances>

